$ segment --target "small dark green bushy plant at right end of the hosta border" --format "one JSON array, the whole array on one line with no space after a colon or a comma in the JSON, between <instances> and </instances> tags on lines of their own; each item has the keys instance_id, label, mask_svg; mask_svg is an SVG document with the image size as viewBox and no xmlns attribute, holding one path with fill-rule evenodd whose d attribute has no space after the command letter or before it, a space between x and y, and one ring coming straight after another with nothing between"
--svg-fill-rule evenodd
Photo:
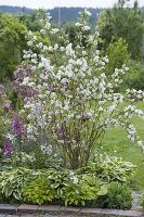
<instances>
[{"instance_id":1,"label":"small dark green bushy plant at right end of the hosta border","mask_svg":"<svg viewBox=\"0 0 144 217\"><path fill-rule=\"evenodd\" d=\"M132 205L132 192L126 183L112 182L101 201L105 208L129 209Z\"/></svg>"}]
</instances>

